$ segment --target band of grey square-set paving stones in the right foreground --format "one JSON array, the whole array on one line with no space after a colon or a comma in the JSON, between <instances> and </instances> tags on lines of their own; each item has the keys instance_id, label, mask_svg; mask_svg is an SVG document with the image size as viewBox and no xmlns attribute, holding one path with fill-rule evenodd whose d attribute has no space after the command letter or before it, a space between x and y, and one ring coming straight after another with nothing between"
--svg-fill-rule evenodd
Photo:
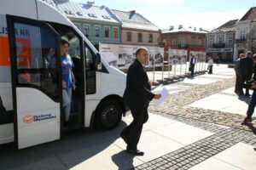
<instances>
[{"instance_id":1,"label":"band of grey square-set paving stones in the right foreground","mask_svg":"<svg viewBox=\"0 0 256 170\"><path fill-rule=\"evenodd\" d=\"M201 122L181 116L160 112L156 114L167 116L178 122L185 122L190 126L200 127L214 134L132 169L189 169L239 142L256 146L256 128L253 125L249 126L253 130L251 133L236 127L222 127L210 122Z\"/></svg>"}]
</instances>

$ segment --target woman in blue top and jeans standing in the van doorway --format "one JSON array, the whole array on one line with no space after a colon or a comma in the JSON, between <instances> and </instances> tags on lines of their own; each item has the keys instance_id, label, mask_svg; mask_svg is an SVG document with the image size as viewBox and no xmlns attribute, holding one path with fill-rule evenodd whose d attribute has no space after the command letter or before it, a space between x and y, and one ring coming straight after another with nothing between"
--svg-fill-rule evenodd
<instances>
[{"instance_id":1,"label":"woman in blue top and jeans standing in the van doorway","mask_svg":"<svg viewBox=\"0 0 256 170\"><path fill-rule=\"evenodd\" d=\"M73 76L72 68L73 61L69 54L70 44L65 40L61 40L61 78L62 78L62 100L64 107L64 126L70 127L72 124L69 122L71 100L72 100L72 87L75 83L75 78Z\"/></svg>"}]
</instances>

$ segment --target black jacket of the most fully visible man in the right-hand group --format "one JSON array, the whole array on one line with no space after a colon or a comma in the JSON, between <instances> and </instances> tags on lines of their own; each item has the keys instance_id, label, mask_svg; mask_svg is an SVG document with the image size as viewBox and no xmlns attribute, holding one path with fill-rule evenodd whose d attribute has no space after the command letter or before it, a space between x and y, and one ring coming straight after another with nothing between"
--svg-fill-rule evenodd
<instances>
[{"instance_id":1,"label":"black jacket of the most fully visible man in the right-hand group","mask_svg":"<svg viewBox=\"0 0 256 170\"><path fill-rule=\"evenodd\" d=\"M240 60L241 75L243 77L253 76L253 59L246 57Z\"/></svg>"}]
</instances>

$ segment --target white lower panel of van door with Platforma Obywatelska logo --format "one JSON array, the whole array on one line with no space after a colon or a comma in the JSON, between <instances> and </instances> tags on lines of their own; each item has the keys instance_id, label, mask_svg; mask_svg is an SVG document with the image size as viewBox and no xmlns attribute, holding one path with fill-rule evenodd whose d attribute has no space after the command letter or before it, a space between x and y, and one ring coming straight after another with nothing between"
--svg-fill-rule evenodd
<instances>
[{"instance_id":1,"label":"white lower panel of van door with Platforma Obywatelska logo","mask_svg":"<svg viewBox=\"0 0 256 170\"><path fill-rule=\"evenodd\" d=\"M60 139L60 104L35 88L16 88L18 148Z\"/></svg>"}]
</instances>

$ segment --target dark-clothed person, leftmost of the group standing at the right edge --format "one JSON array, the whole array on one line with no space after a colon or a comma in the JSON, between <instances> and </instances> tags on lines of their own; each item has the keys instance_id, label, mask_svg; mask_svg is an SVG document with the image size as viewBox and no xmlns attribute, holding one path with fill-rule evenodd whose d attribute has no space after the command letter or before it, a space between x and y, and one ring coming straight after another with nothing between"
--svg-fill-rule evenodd
<instances>
[{"instance_id":1,"label":"dark-clothed person, leftmost of the group standing at the right edge","mask_svg":"<svg viewBox=\"0 0 256 170\"><path fill-rule=\"evenodd\" d=\"M240 71L240 60L245 57L244 54L240 54L238 59L235 61L234 70L236 71L236 86L235 86L235 93L238 95L242 93L242 84L241 84L241 71Z\"/></svg>"}]
</instances>

